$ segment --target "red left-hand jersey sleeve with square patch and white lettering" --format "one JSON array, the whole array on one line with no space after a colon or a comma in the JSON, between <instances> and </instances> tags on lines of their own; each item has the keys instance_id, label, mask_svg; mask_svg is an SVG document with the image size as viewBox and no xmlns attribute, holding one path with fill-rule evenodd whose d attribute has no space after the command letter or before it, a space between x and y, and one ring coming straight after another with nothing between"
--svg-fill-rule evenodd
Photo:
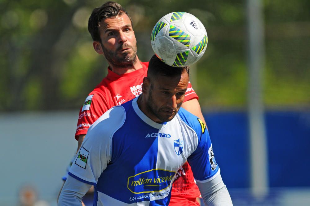
<instances>
[{"instance_id":1,"label":"red left-hand jersey sleeve with square patch and white lettering","mask_svg":"<svg viewBox=\"0 0 310 206\"><path fill-rule=\"evenodd\" d=\"M89 127L112 106L108 105L102 94L91 92L80 109L75 139L78 140L78 135L86 134Z\"/></svg>"}]
</instances>

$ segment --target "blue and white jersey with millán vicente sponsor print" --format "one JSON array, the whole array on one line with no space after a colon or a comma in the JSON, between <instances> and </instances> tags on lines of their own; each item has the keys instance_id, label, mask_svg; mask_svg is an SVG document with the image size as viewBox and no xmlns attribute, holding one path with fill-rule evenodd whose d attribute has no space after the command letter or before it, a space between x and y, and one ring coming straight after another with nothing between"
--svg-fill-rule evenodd
<instances>
[{"instance_id":1,"label":"blue and white jersey with mill\u00e1n vicente sponsor print","mask_svg":"<svg viewBox=\"0 0 310 206\"><path fill-rule=\"evenodd\" d=\"M95 121L69 170L95 186L94 205L168 205L176 171L187 160L197 182L219 174L201 120L180 108L158 124L141 112L137 99Z\"/></svg>"}]
</instances>

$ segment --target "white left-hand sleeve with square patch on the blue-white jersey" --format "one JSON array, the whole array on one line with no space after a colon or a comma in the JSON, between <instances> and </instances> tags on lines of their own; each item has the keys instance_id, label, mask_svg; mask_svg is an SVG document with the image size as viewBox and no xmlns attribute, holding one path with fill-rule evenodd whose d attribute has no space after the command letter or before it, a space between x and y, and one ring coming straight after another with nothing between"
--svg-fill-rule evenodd
<instances>
[{"instance_id":1,"label":"white left-hand sleeve with square patch on the blue-white jersey","mask_svg":"<svg viewBox=\"0 0 310 206\"><path fill-rule=\"evenodd\" d=\"M112 137L125 121L124 107L105 112L89 128L80 150L69 169L69 175L81 182L96 185L101 173L111 161Z\"/></svg>"}]
</instances>

